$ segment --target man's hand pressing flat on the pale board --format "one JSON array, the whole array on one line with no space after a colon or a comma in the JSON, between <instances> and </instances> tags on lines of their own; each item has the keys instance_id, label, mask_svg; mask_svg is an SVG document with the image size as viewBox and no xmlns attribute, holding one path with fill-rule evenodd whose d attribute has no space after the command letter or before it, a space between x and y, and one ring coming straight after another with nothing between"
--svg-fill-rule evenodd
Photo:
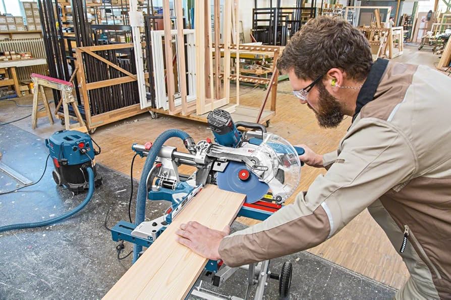
<instances>
[{"instance_id":1,"label":"man's hand pressing flat on the pale board","mask_svg":"<svg viewBox=\"0 0 451 300\"><path fill-rule=\"evenodd\" d=\"M177 242L193 250L195 253L211 260L219 260L219 244L230 234L229 226L223 231L209 229L202 224L191 221L181 224L176 231Z\"/></svg>"}]
</instances>

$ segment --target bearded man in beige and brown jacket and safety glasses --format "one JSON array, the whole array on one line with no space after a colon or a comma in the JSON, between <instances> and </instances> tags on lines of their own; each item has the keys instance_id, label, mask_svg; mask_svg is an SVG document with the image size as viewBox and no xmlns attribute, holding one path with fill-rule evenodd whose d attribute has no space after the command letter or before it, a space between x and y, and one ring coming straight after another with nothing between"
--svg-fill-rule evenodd
<instances>
[{"instance_id":1,"label":"bearded man in beige and brown jacket and safety glasses","mask_svg":"<svg viewBox=\"0 0 451 300\"><path fill-rule=\"evenodd\" d=\"M451 79L422 65L372 60L348 22L310 20L277 61L319 125L352 125L337 151L300 159L326 168L265 221L230 235L183 224L178 241L240 266L314 247L362 210L385 231L410 278L397 298L451 298Z\"/></svg>"}]
</instances>

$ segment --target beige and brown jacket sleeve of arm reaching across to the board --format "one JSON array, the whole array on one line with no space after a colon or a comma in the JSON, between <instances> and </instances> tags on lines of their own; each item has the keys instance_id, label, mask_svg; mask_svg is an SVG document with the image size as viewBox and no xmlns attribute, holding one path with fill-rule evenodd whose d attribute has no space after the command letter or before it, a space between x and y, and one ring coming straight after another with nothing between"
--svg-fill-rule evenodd
<instances>
[{"instance_id":1,"label":"beige and brown jacket sleeve of arm reaching across to the board","mask_svg":"<svg viewBox=\"0 0 451 300\"><path fill-rule=\"evenodd\" d=\"M309 249L339 232L417 169L409 140L391 124L361 119L347 133L335 163L306 194L265 221L225 237L221 259L235 267Z\"/></svg>"}]
</instances>

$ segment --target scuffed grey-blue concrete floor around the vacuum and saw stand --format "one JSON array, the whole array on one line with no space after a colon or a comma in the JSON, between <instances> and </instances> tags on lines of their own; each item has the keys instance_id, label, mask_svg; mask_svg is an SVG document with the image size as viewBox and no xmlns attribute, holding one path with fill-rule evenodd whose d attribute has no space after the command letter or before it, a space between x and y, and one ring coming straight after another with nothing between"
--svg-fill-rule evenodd
<instances>
[{"instance_id":1,"label":"scuffed grey-blue concrete floor around the vacuum and saw stand","mask_svg":"<svg viewBox=\"0 0 451 300\"><path fill-rule=\"evenodd\" d=\"M29 178L37 180L44 169L47 149L44 140L15 125L0 129L2 162ZM97 164L103 185L96 189L90 203L74 217L49 227L17 230L0 234L0 299L23 298L100 298L131 266L132 256L117 259L116 245L104 227L128 219L130 179ZM84 194L73 195L53 182L47 171L41 182L18 192L0 196L0 226L17 222L45 220L73 209ZM16 188L17 182L0 174L0 192ZM135 181L135 191L137 183ZM135 195L136 196L136 195ZM165 201L147 206L147 217L163 213ZM132 211L134 206L132 205ZM234 223L234 229L243 228ZM126 243L121 256L132 249ZM271 262L272 272L290 260L294 264L291 298L390 298L394 289L351 272L307 252L278 258ZM244 297L246 271L239 270L221 288L208 284L223 295ZM253 294L253 293L251 293ZM278 282L269 280L266 298L278 297Z\"/></svg>"}]
</instances>

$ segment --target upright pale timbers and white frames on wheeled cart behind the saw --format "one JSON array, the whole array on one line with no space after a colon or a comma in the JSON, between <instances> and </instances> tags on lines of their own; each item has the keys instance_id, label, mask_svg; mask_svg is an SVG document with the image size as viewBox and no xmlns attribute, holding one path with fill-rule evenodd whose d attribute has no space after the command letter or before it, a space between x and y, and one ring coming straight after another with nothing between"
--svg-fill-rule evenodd
<instances>
[{"instance_id":1,"label":"upright pale timbers and white frames on wheeled cart behind the saw","mask_svg":"<svg viewBox=\"0 0 451 300\"><path fill-rule=\"evenodd\" d=\"M169 1L163 1L164 30L150 33L156 91L156 99L150 110L203 121L205 115L216 108L230 113L243 111L240 105L240 82L263 83L267 86L266 94L271 95L271 98L265 96L262 105L253 108L252 113L246 116L246 121L266 121L275 112L276 94L271 90L276 90L277 77L268 81L260 80L258 76L276 72L275 61L281 47L243 48L239 44L238 0L224 1L222 17L220 1L215 0L213 4L210 6L207 0L195 2L194 30L190 30L183 27L182 2L175 1L175 16L171 16ZM212 19L208 17L211 15ZM255 70L255 75L250 71L246 73L251 76L243 77L240 73L247 69L240 66L241 55L269 56L273 61L272 68L263 70L260 67ZM231 95L231 81L236 85L235 95ZM230 103L231 98L236 99L236 103ZM271 113L263 112L268 99L271 101Z\"/></svg>"}]
</instances>

